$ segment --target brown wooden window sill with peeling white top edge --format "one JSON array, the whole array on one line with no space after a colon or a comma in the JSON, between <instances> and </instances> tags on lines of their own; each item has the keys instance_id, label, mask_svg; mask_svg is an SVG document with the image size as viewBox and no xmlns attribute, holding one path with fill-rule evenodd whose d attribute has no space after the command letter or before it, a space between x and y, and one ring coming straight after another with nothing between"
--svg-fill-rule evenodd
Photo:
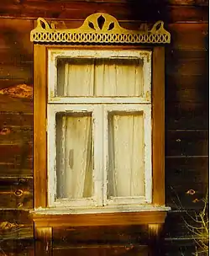
<instances>
[{"instance_id":1,"label":"brown wooden window sill with peeling white top edge","mask_svg":"<svg viewBox=\"0 0 210 256\"><path fill-rule=\"evenodd\" d=\"M123 209L96 207L92 209L36 209L31 211L35 227L81 227L81 226L117 226L117 225L141 225L162 224L165 221L166 211L170 207L137 205ZM79 213L78 213L79 211Z\"/></svg>"}]
</instances>

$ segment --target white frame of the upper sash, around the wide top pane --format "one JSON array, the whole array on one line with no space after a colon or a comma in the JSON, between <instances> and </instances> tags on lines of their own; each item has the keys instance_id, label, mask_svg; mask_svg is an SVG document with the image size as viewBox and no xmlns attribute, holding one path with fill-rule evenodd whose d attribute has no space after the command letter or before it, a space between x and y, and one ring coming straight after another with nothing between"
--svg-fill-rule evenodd
<instances>
[{"instance_id":1,"label":"white frame of the upper sash, around the wide top pane","mask_svg":"<svg viewBox=\"0 0 210 256\"><path fill-rule=\"evenodd\" d=\"M48 103L150 103L151 102L151 51L138 50L53 50L48 51ZM111 96L111 97L72 97L72 96L57 96L56 89L58 85L57 76L57 60L58 59L139 59L142 61L143 67L143 93L141 96ZM116 102L117 101L117 102Z\"/></svg>"}]
</instances>

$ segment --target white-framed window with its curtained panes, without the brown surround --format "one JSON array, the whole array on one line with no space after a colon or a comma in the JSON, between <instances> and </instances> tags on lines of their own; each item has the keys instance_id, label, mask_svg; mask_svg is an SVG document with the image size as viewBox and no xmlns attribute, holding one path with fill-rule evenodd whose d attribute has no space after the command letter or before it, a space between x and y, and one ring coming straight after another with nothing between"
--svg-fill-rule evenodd
<instances>
[{"instance_id":1,"label":"white-framed window with its curtained panes, without the brown surround","mask_svg":"<svg viewBox=\"0 0 210 256\"><path fill-rule=\"evenodd\" d=\"M50 50L48 67L49 205L151 203L151 51Z\"/></svg>"}]
</instances>

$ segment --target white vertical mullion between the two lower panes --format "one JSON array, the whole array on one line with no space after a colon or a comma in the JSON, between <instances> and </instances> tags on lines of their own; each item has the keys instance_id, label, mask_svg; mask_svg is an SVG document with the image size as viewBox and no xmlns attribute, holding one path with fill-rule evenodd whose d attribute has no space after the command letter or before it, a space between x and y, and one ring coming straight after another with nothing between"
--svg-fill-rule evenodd
<instances>
[{"instance_id":1,"label":"white vertical mullion between the two lower panes","mask_svg":"<svg viewBox=\"0 0 210 256\"><path fill-rule=\"evenodd\" d=\"M103 106L96 105L93 110L93 137L94 137L94 197L97 206L102 206L102 177L103 177Z\"/></svg>"}]
</instances>

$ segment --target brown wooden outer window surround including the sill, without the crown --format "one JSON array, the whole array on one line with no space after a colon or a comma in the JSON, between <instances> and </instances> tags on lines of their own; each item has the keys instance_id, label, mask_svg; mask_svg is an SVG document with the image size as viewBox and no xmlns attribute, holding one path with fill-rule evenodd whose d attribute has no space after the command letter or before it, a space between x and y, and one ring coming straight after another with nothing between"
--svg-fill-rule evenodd
<instances>
[{"instance_id":1,"label":"brown wooden outer window surround including the sill, without the crown","mask_svg":"<svg viewBox=\"0 0 210 256\"><path fill-rule=\"evenodd\" d=\"M64 45L62 49L75 47ZM80 46L76 46L80 47ZM84 47L84 46L81 46ZM96 225L160 225L165 221L165 48L164 46L86 46L97 49L152 51L152 202L153 209L136 212L68 214L48 207L47 93L48 50L59 45L34 44L34 211L36 227ZM74 49L74 48L73 48Z\"/></svg>"}]
</instances>

